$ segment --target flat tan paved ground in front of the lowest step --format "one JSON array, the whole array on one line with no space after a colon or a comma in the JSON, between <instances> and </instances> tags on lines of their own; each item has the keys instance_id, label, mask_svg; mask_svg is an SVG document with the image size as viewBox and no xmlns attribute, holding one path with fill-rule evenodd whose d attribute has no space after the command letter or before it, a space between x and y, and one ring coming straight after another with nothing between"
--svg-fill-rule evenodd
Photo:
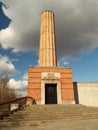
<instances>
[{"instance_id":1,"label":"flat tan paved ground in front of the lowest step","mask_svg":"<svg viewBox=\"0 0 98 130\"><path fill-rule=\"evenodd\" d=\"M12 128L2 128L0 130L98 130L98 119L91 120L63 120L53 123L24 124L24 126L13 126Z\"/></svg>"}]
</instances>

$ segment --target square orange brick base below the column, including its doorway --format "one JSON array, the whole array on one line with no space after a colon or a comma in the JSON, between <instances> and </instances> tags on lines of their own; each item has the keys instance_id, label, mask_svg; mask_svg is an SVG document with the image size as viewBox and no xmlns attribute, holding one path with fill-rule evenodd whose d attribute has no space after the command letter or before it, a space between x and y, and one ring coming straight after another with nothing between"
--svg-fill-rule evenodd
<instances>
[{"instance_id":1,"label":"square orange brick base below the column, including its doorway","mask_svg":"<svg viewBox=\"0 0 98 130\"><path fill-rule=\"evenodd\" d=\"M72 69L29 67L28 96L37 104L75 104Z\"/></svg>"}]
</instances>

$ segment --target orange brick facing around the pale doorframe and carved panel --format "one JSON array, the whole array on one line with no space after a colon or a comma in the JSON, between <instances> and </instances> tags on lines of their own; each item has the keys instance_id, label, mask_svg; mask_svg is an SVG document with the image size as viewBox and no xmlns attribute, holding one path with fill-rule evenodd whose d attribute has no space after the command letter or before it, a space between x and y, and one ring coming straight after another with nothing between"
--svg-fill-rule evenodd
<instances>
[{"instance_id":1,"label":"orange brick facing around the pale doorframe and carved panel","mask_svg":"<svg viewBox=\"0 0 98 130\"><path fill-rule=\"evenodd\" d=\"M43 80L41 78L42 72L60 73L61 100L74 100L72 69L63 67L29 67L28 96L35 98L35 100L41 100L41 81Z\"/></svg>"}]
</instances>

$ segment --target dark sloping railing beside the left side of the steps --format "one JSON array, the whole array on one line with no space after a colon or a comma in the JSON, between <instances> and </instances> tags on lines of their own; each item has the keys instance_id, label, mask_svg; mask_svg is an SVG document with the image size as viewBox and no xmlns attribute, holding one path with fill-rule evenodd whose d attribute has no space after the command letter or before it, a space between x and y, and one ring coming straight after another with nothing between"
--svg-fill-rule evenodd
<instances>
[{"instance_id":1,"label":"dark sloping railing beside the left side of the steps","mask_svg":"<svg viewBox=\"0 0 98 130\"><path fill-rule=\"evenodd\" d=\"M32 97L21 97L16 98L13 100L9 100L3 103L0 103L0 119L3 119L4 117L9 116L10 114L13 114L14 112L21 110L28 106L27 100L31 100L32 104L36 104L35 99ZM15 105L16 107L14 109L11 109L11 105Z\"/></svg>"}]
</instances>

